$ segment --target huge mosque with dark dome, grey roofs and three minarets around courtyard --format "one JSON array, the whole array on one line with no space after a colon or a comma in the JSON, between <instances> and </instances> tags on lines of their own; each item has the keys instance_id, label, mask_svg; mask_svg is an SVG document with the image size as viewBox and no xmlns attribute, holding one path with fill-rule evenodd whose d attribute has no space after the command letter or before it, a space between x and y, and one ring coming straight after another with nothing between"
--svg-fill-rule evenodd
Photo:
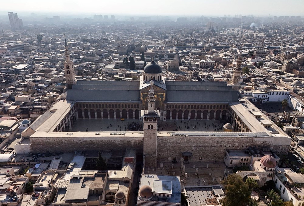
<instances>
[{"instance_id":1,"label":"huge mosque with dark dome, grey roofs and three minarets around courtyard","mask_svg":"<svg viewBox=\"0 0 304 206\"><path fill-rule=\"evenodd\" d=\"M154 49L155 50L155 49ZM161 48L159 48L159 51ZM166 48L162 48L162 51ZM238 93L241 58L231 85L226 82L166 81L151 61L140 81L75 81L65 42L67 98L58 101L22 132L32 152L125 150L143 154L145 165L160 162L223 161L227 149L270 148L287 154L291 139ZM143 131L70 132L79 119L134 119ZM158 131L157 122L210 121L227 123L222 131ZM216 152L215 152L216 151Z\"/></svg>"}]
</instances>

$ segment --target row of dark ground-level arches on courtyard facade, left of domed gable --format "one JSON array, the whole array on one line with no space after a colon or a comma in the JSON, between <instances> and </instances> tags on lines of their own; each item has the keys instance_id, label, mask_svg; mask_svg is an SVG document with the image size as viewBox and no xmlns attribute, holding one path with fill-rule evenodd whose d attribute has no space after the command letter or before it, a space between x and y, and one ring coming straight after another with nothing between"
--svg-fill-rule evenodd
<instances>
[{"instance_id":1,"label":"row of dark ground-level arches on courtyard facade, left of domed gable","mask_svg":"<svg viewBox=\"0 0 304 206\"><path fill-rule=\"evenodd\" d=\"M109 111L107 109L97 109L96 111L94 109L80 109L77 110L77 115L79 119L139 119L139 110L136 109L133 111L133 109L123 109L119 110L116 109L115 111L113 109L110 109Z\"/></svg>"}]
</instances>

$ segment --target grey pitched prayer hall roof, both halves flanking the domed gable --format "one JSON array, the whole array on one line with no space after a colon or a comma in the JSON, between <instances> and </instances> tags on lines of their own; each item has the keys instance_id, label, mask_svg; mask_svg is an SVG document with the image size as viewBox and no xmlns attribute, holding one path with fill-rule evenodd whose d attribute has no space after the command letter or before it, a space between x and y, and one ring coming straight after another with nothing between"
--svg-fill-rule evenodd
<instances>
[{"instance_id":1,"label":"grey pitched prayer hall roof, both halves flanking the domed gable","mask_svg":"<svg viewBox=\"0 0 304 206\"><path fill-rule=\"evenodd\" d=\"M148 85L147 85L148 86ZM237 91L219 81L166 81L168 102L237 102ZM77 81L67 91L72 101L140 101L139 81Z\"/></svg>"}]
</instances>

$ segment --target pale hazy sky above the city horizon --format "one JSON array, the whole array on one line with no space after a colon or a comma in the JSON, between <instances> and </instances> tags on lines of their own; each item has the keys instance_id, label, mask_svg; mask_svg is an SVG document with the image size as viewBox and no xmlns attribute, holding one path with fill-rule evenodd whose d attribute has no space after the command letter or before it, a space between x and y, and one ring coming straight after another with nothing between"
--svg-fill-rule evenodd
<instances>
[{"instance_id":1,"label":"pale hazy sky above the city horizon","mask_svg":"<svg viewBox=\"0 0 304 206\"><path fill-rule=\"evenodd\" d=\"M1 0L0 5L1 14L304 15L304 0Z\"/></svg>"}]
</instances>

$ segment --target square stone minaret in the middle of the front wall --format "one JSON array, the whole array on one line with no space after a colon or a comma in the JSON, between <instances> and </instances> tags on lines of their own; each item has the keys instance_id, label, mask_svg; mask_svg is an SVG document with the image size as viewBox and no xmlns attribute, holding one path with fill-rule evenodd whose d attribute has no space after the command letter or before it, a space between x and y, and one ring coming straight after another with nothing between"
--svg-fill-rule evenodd
<instances>
[{"instance_id":1,"label":"square stone minaret in the middle of the front wall","mask_svg":"<svg viewBox=\"0 0 304 206\"><path fill-rule=\"evenodd\" d=\"M157 167L157 118L159 115L154 110L153 80L150 81L148 110L144 110L143 118L143 155L145 167Z\"/></svg>"}]
</instances>

